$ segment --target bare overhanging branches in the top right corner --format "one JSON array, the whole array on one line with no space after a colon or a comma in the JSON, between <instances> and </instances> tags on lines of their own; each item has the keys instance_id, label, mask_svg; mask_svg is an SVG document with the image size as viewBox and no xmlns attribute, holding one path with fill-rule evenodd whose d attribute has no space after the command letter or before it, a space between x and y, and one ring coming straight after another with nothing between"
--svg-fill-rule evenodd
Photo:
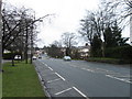
<instances>
[{"instance_id":1,"label":"bare overhanging branches in the top right corner","mask_svg":"<svg viewBox=\"0 0 132 99\"><path fill-rule=\"evenodd\" d=\"M107 7L107 11L114 11L120 23L132 15L132 0L102 0L102 6Z\"/></svg>"}]
</instances>

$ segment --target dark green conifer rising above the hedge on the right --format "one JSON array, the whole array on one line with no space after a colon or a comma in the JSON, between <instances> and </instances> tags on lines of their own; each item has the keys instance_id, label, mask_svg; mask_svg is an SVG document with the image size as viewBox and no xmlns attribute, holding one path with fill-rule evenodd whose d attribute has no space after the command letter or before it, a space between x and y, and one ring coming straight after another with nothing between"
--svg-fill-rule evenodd
<instances>
[{"instance_id":1,"label":"dark green conifer rising above the hedge on the right","mask_svg":"<svg viewBox=\"0 0 132 99\"><path fill-rule=\"evenodd\" d=\"M122 30L118 26L117 21L112 26L106 28L103 33L105 48L127 45L129 37L122 37L121 32Z\"/></svg>"}]
</instances>

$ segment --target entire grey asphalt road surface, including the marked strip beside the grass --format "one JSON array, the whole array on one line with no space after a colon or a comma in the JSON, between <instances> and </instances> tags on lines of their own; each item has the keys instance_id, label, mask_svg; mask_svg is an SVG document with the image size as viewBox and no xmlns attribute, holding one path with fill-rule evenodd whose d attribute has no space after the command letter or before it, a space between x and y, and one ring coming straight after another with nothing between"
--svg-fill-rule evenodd
<instances>
[{"instance_id":1,"label":"entire grey asphalt road surface, including the marked strip beside the grass","mask_svg":"<svg viewBox=\"0 0 132 99\"><path fill-rule=\"evenodd\" d=\"M128 99L130 66L45 58L33 62L44 90L52 98Z\"/></svg>"}]
</instances>

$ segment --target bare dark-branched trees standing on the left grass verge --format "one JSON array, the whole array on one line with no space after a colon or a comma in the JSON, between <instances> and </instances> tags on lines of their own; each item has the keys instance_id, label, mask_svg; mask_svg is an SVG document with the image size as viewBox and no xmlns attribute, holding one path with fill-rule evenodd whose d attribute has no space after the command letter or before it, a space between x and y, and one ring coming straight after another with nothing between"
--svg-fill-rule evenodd
<instances>
[{"instance_id":1,"label":"bare dark-branched trees standing on the left grass verge","mask_svg":"<svg viewBox=\"0 0 132 99\"><path fill-rule=\"evenodd\" d=\"M53 14L46 14L42 18L35 19L35 13L32 9L25 9L24 7L18 9L10 6L8 9L6 6L2 10L2 52L12 48L24 53L23 57L28 63L28 52L31 50L31 63L33 44L36 38L36 22L42 22L45 18ZM19 41L19 43L18 43Z\"/></svg>"}]
</instances>

